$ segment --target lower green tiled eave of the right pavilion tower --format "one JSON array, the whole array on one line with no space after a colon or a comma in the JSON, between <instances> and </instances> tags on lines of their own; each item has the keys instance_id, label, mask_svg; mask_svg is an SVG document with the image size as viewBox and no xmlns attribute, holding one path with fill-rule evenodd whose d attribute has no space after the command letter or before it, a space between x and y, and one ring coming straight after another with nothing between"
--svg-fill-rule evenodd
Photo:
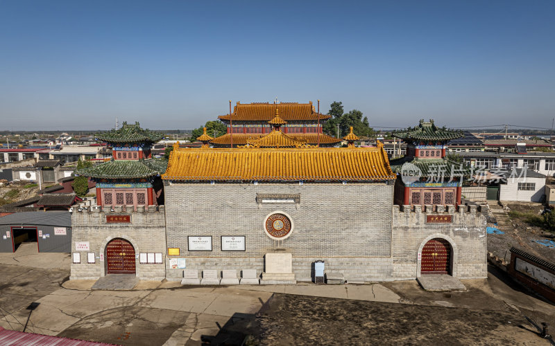
<instances>
[{"instance_id":1,"label":"lower green tiled eave of the right pavilion tower","mask_svg":"<svg viewBox=\"0 0 555 346\"><path fill-rule=\"evenodd\" d=\"M464 165L463 163L457 163L447 159L430 159L430 158L414 158L413 156L404 156L402 158L396 158L395 160L389 161L391 165L391 170L394 173L401 174L402 167L405 163L411 163L420 170L420 176L445 176L449 178L450 176L470 176L472 174L472 167L470 165ZM407 170L408 167L405 168Z\"/></svg>"}]
</instances>

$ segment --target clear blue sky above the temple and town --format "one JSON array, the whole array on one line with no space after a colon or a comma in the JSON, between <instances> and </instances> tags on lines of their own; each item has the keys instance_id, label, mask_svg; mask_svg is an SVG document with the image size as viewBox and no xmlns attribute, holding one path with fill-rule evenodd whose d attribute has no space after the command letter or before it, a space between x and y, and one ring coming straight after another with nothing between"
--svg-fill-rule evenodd
<instances>
[{"instance_id":1,"label":"clear blue sky above the temple and town","mask_svg":"<svg viewBox=\"0 0 555 346\"><path fill-rule=\"evenodd\" d=\"M334 100L376 127L551 127L555 1L0 0L0 129L199 127Z\"/></svg>"}]
</instances>

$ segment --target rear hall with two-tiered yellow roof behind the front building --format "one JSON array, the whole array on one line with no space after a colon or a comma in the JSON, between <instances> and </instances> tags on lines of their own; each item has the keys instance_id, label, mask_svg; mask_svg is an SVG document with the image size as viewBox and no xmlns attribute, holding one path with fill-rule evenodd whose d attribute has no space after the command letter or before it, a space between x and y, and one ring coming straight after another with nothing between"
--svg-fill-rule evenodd
<instances>
[{"instance_id":1,"label":"rear hall with two-tiered yellow roof behind the front building","mask_svg":"<svg viewBox=\"0 0 555 346\"><path fill-rule=\"evenodd\" d=\"M341 143L341 138L333 138L323 134L324 123L331 116L318 113L312 102L281 102L281 103L250 103L237 102L234 110L225 116L219 116L227 125L227 134L212 140L214 147L230 147L231 145L246 145L248 140L254 140L269 134L272 125L268 122L274 118L275 109L286 123L282 125L282 132L294 140L309 145L333 147Z\"/></svg>"}]
</instances>

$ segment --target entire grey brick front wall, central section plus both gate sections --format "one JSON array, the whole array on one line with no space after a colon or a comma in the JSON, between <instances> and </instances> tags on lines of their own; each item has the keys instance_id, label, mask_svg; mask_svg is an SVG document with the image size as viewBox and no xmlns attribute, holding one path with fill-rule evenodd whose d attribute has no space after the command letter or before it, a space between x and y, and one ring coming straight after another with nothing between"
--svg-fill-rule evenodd
<instances>
[{"instance_id":1,"label":"entire grey brick front wall, central section plus both gate sections","mask_svg":"<svg viewBox=\"0 0 555 346\"><path fill-rule=\"evenodd\" d=\"M318 260L326 275L348 282L411 280L421 274L423 246L438 238L450 244L451 275L487 276L486 221L476 207L394 206L392 184L173 182L164 191L166 206L74 210L71 251L80 260L71 264L71 279L105 276L106 246L117 238L133 245L136 275L143 280L182 280L185 269L198 271L199 278L206 270L221 277L229 269L239 277L254 269L260 277L267 253L291 253L297 281L312 280ZM275 213L291 219L287 239L266 234L264 221ZM126 215L129 222L107 222ZM449 222L429 222L447 216ZM189 248L198 237L210 237L211 251ZM244 251L225 251L222 237L244 237ZM76 248L83 242L89 250ZM88 263L89 253L94 263ZM143 263L141 253L160 254L161 262Z\"/></svg>"}]
</instances>

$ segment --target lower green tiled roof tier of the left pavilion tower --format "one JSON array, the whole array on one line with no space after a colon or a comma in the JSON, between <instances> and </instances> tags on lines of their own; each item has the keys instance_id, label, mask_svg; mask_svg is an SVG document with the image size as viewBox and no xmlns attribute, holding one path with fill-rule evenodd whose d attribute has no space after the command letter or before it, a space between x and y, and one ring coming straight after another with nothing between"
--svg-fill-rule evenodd
<instances>
[{"instance_id":1,"label":"lower green tiled roof tier of the left pavilion tower","mask_svg":"<svg viewBox=\"0 0 555 346\"><path fill-rule=\"evenodd\" d=\"M137 179L162 175L166 172L167 166L168 161L165 160L112 160L78 170L75 174L97 179Z\"/></svg>"}]
</instances>

